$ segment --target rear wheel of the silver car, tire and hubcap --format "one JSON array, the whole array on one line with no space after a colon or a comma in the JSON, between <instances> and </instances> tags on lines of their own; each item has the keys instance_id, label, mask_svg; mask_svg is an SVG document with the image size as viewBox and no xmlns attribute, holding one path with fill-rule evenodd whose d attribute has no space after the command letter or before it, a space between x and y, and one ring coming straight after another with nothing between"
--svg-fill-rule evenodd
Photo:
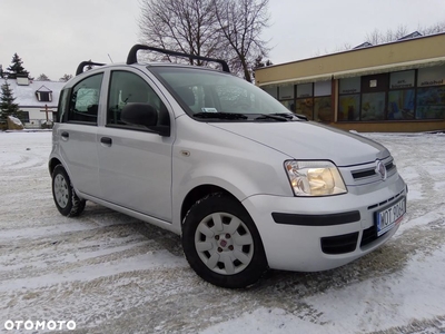
<instances>
[{"instance_id":1,"label":"rear wheel of the silver car, tire and hubcap","mask_svg":"<svg viewBox=\"0 0 445 334\"><path fill-rule=\"evenodd\" d=\"M60 214L67 217L79 216L86 205L72 187L71 180L62 165L57 165L52 171L52 198Z\"/></svg>"}]
</instances>

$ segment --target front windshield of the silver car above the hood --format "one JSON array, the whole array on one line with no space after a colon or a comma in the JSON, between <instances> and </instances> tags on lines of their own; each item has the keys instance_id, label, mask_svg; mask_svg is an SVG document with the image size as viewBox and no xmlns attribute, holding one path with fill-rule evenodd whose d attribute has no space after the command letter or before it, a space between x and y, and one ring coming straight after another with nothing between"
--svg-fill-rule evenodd
<instances>
[{"instance_id":1,"label":"front windshield of the silver car above the hood","mask_svg":"<svg viewBox=\"0 0 445 334\"><path fill-rule=\"evenodd\" d=\"M200 68L150 67L195 118L280 120L293 114L263 89L226 72ZM279 115L264 117L264 115Z\"/></svg>"}]
</instances>

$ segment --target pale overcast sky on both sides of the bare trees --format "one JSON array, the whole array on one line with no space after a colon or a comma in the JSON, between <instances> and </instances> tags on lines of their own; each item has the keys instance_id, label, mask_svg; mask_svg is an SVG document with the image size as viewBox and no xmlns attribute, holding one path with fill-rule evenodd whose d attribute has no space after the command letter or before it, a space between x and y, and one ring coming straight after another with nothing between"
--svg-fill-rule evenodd
<instances>
[{"instance_id":1,"label":"pale overcast sky on both sides of the bare trees","mask_svg":"<svg viewBox=\"0 0 445 334\"><path fill-rule=\"evenodd\" d=\"M0 0L0 63L17 52L38 77L75 75L82 60L125 61L139 41L139 0ZM264 32L277 65L365 41L375 29L409 31L445 20L445 0L269 0Z\"/></svg>"}]
</instances>

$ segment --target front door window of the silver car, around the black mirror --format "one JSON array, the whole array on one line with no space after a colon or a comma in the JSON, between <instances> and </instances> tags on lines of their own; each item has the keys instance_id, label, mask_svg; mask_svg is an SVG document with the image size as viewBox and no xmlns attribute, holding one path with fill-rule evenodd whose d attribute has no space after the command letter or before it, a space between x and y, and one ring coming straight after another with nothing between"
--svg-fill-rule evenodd
<instances>
[{"instance_id":1,"label":"front door window of the silver car, around the black mirror","mask_svg":"<svg viewBox=\"0 0 445 334\"><path fill-rule=\"evenodd\" d=\"M112 71L108 95L107 125L125 126L120 112L127 104L149 104L158 112L158 125L170 124L166 106L152 88L139 76L127 71Z\"/></svg>"}]
</instances>

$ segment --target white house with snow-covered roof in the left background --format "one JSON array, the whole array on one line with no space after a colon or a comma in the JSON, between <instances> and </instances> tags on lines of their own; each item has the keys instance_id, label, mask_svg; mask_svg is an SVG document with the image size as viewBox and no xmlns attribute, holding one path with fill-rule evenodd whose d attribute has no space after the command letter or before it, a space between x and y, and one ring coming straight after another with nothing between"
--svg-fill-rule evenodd
<instances>
[{"instance_id":1,"label":"white house with snow-covered roof in the left background","mask_svg":"<svg viewBox=\"0 0 445 334\"><path fill-rule=\"evenodd\" d=\"M0 86L6 80L0 79ZM37 81L28 78L8 79L9 88L23 112L22 122L26 128L41 128L47 122L51 124L57 112L60 90L66 82Z\"/></svg>"}]
</instances>

